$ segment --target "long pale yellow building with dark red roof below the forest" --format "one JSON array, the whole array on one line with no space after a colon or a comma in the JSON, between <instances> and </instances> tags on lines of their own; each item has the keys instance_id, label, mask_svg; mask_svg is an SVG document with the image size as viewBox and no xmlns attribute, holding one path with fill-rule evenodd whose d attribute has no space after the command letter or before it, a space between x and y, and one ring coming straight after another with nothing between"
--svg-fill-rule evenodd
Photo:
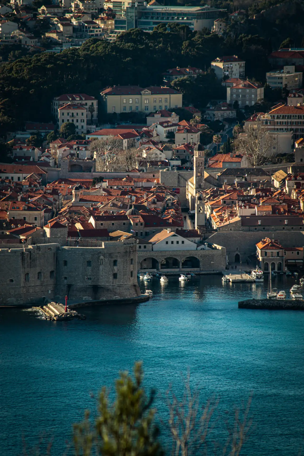
<instances>
[{"instance_id":1,"label":"long pale yellow building with dark red roof below the forest","mask_svg":"<svg viewBox=\"0 0 304 456\"><path fill-rule=\"evenodd\" d=\"M101 92L108 113L181 108L183 96L170 87L113 86Z\"/></svg>"}]
</instances>

